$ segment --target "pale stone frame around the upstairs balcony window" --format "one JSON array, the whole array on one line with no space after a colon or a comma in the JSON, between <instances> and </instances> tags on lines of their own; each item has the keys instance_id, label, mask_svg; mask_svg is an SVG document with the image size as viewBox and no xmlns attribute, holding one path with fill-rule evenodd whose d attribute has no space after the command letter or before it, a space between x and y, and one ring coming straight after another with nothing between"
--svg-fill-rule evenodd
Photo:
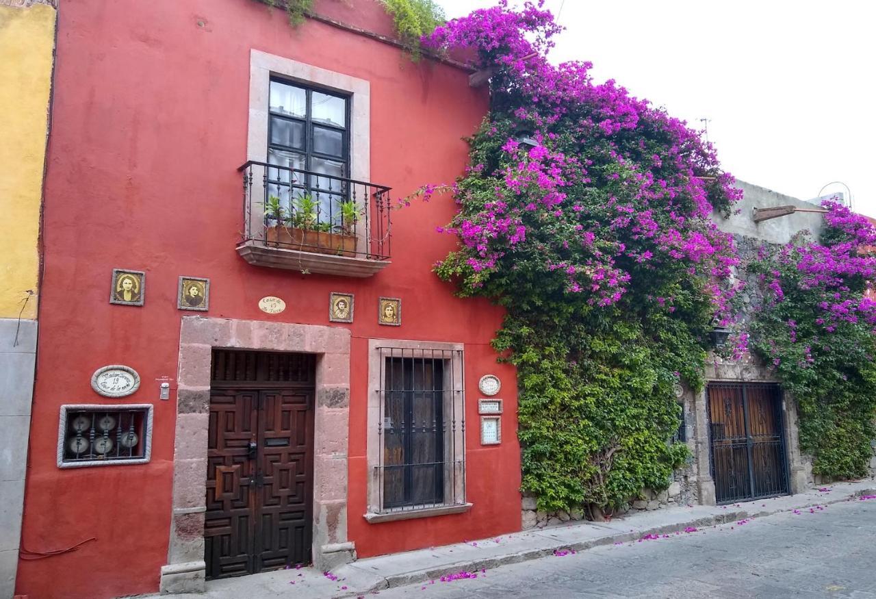
<instances>
[{"instance_id":1,"label":"pale stone frame around the upstairs balcony window","mask_svg":"<svg viewBox=\"0 0 876 599\"><path fill-rule=\"evenodd\" d=\"M350 102L350 179L368 182L371 180L371 83L348 74L337 73L322 67L308 65L261 52L250 51L250 112L247 130L247 161L267 162L268 158L268 102L271 97L271 78L299 82L309 88L348 96ZM261 181L265 169L252 166L253 180ZM365 207L369 212L371 207ZM265 209L257 201L251 202L251 222L264 222ZM371 214L368 215L371 222ZM359 232L357 251L368 249L370 231Z\"/></svg>"}]
</instances>

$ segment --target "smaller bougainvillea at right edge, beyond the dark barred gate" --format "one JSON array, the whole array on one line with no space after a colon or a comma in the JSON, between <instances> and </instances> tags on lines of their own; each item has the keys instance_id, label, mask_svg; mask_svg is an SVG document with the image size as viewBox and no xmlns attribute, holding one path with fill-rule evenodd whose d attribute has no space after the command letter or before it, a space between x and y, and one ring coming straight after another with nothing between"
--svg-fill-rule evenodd
<instances>
[{"instance_id":1,"label":"smaller bougainvillea at right edge, beyond the dark barred gate","mask_svg":"<svg viewBox=\"0 0 876 599\"><path fill-rule=\"evenodd\" d=\"M876 435L876 229L838 201L825 201L821 238L764 246L748 267L764 304L751 347L781 377L800 412L800 445L816 474L862 476Z\"/></svg>"}]
</instances>

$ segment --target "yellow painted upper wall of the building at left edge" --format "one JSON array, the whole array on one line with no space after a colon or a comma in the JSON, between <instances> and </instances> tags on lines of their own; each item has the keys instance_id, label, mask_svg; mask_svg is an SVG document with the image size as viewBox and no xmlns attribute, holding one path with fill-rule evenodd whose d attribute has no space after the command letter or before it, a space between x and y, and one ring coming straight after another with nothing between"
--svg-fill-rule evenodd
<instances>
[{"instance_id":1,"label":"yellow painted upper wall of the building at left edge","mask_svg":"<svg viewBox=\"0 0 876 599\"><path fill-rule=\"evenodd\" d=\"M0 0L0 318L37 292L39 206L52 88L55 10ZM22 318L37 315L34 294Z\"/></svg>"}]
</instances>

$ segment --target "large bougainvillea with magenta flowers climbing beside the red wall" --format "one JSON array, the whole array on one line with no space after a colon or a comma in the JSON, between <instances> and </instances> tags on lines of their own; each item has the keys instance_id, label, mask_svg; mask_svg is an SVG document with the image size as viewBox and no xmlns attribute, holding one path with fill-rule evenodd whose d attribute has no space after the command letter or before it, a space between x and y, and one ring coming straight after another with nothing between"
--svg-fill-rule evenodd
<instances>
[{"instance_id":1,"label":"large bougainvillea with magenta flowers climbing beside the red wall","mask_svg":"<svg viewBox=\"0 0 876 599\"><path fill-rule=\"evenodd\" d=\"M424 39L491 72L453 187L460 245L436 271L507 310L494 345L518 369L523 489L596 516L665 488L688 455L674 388L702 387L713 319L730 318L738 260L710 215L739 192L685 123L589 63L549 63L560 29L502 2Z\"/></svg>"}]
</instances>

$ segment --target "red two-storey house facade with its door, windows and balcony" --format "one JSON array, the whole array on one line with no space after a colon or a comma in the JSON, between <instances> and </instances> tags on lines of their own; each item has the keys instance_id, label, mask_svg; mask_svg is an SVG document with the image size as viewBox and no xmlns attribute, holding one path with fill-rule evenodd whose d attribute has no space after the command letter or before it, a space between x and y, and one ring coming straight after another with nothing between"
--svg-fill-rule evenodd
<instances>
[{"instance_id":1,"label":"red two-storey house facade with its door, windows and balcony","mask_svg":"<svg viewBox=\"0 0 876 599\"><path fill-rule=\"evenodd\" d=\"M503 313L431 272L451 201L397 209L486 91L374 0L315 12L60 5L18 594L519 530Z\"/></svg>"}]
</instances>

